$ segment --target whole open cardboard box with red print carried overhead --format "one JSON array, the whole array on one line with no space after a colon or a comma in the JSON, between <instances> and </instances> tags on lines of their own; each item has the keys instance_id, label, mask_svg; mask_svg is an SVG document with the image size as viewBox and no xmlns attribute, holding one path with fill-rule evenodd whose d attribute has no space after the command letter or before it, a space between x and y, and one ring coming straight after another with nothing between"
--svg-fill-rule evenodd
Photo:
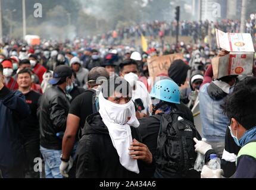
<instances>
[{"instance_id":1,"label":"whole open cardboard box with red print carried overhead","mask_svg":"<svg viewBox=\"0 0 256 190\"><path fill-rule=\"evenodd\" d=\"M214 78L252 75L254 45L251 34L224 33L216 29L216 39L218 47L230 53L212 59Z\"/></svg>"}]
</instances>

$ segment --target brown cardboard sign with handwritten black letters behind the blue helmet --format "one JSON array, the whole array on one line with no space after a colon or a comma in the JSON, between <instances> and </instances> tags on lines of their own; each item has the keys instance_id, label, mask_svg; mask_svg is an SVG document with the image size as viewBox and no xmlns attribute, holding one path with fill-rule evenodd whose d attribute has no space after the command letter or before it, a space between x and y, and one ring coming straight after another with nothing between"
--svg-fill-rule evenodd
<instances>
[{"instance_id":1,"label":"brown cardboard sign with handwritten black letters behind the blue helmet","mask_svg":"<svg viewBox=\"0 0 256 190\"><path fill-rule=\"evenodd\" d=\"M149 76L157 77L161 73L168 74L171 63L177 59L183 59L183 54L176 53L148 59Z\"/></svg>"}]
</instances>

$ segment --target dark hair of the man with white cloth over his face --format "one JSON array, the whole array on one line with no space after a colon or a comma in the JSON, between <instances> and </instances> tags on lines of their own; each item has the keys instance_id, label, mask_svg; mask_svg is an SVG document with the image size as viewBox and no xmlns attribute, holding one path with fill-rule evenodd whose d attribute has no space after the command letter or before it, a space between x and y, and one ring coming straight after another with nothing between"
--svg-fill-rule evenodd
<instances>
[{"instance_id":1,"label":"dark hair of the man with white cloth over his face","mask_svg":"<svg viewBox=\"0 0 256 190\"><path fill-rule=\"evenodd\" d=\"M132 97L132 87L124 78L110 77L102 84L102 94L105 99L111 97L115 91L118 91L124 97Z\"/></svg>"}]
</instances>

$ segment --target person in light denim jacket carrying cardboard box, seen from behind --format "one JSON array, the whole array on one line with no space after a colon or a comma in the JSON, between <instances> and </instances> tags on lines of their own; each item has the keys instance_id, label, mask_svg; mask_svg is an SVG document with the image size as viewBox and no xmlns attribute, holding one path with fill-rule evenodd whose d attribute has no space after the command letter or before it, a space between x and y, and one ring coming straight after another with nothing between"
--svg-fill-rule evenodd
<instances>
[{"instance_id":1,"label":"person in light denim jacket carrying cardboard box, seen from behind","mask_svg":"<svg viewBox=\"0 0 256 190\"><path fill-rule=\"evenodd\" d=\"M224 150L224 138L229 120L220 108L223 99L232 92L237 76L226 76L212 81L213 67L209 66L200 88L199 106L202 132L207 142L216 150L219 157Z\"/></svg>"}]
</instances>

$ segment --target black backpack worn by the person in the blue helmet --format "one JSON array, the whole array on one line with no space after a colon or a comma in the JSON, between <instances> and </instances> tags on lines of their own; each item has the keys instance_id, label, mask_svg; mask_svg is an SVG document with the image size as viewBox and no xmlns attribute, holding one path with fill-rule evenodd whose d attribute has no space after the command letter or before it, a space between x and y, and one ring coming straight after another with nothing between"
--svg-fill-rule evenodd
<instances>
[{"instance_id":1,"label":"black backpack worn by the person in the blue helmet","mask_svg":"<svg viewBox=\"0 0 256 190\"><path fill-rule=\"evenodd\" d=\"M193 169L197 157L194 137L201 140L195 125L183 113L162 115L156 158L160 178L200 178Z\"/></svg>"}]
</instances>

